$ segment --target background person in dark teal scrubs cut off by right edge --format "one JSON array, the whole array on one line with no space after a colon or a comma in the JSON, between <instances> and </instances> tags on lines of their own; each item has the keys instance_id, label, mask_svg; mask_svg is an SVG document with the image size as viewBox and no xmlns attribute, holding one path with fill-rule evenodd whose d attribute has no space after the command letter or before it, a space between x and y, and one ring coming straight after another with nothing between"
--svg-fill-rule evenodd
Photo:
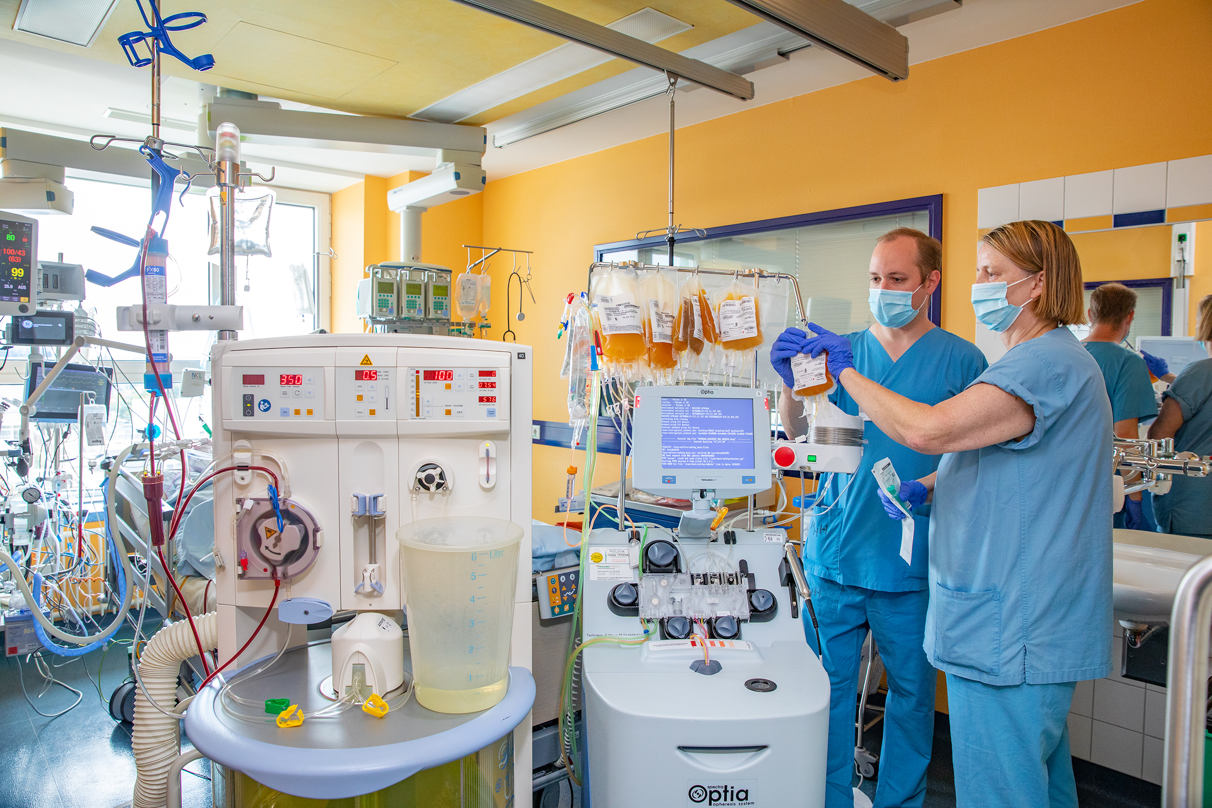
<instances>
[{"instance_id":1,"label":"background person in dark teal scrubs cut off by right edge","mask_svg":"<svg viewBox=\"0 0 1212 808\"><path fill-rule=\"evenodd\" d=\"M1195 339L1212 344L1212 294L1200 300ZM1160 378L1160 377L1159 377ZM1176 452L1212 454L1212 359L1183 368L1162 395L1149 437L1173 437ZM1153 498L1162 533L1212 539L1212 477L1174 476L1170 493Z\"/></svg>"}]
</instances>

